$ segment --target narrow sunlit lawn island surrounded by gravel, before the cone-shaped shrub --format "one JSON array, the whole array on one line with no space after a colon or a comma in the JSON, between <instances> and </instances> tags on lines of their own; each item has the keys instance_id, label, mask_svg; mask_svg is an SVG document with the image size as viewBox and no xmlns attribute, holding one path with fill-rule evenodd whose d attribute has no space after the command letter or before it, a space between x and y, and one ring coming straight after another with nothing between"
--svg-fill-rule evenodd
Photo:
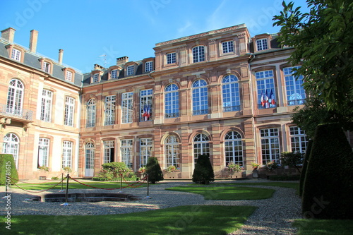
<instances>
[{"instance_id":1,"label":"narrow sunlit lawn island surrounded by gravel, before the cone-shaped shrub","mask_svg":"<svg viewBox=\"0 0 353 235\"><path fill-rule=\"evenodd\" d=\"M258 200L272 197L275 190L243 186L179 186L166 188L172 191L198 193L210 200Z\"/></svg>"}]
</instances>

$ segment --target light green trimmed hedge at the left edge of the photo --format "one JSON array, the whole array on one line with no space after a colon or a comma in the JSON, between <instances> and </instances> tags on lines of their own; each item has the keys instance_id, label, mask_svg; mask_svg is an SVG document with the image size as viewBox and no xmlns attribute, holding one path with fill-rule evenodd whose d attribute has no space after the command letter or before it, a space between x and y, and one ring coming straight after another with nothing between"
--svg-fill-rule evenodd
<instances>
[{"instance_id":1,"label":"light green trimmed hedge at the left edge of the photo","mask_svg":"<svg viewBox=\"0 0 353 235\"><path fill-rule=\"evenodd\" d=\"M10 176L13 183L18 182L18 172L15 159L9 154L0 154L0 184L6 185L6 175ZM16 180L14 180L16 179Z\"/></svg>"}]
</instances>

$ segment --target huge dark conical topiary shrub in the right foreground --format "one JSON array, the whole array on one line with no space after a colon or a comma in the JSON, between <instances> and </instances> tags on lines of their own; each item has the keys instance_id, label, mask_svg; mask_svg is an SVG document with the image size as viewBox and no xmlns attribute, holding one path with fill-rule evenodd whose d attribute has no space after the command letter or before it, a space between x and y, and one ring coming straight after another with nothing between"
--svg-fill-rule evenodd
<instances>
[{"instance_id":1,"label":"huge dark conical topiary shrub in the right foreground","mask_svg":"<svg viewBox=\"0 0 353 235\"><path fill-rule=\"evenodd\" d=\"M338 124L316 128L304 180L302 212L318 219L353 219L353 152Z\"/></svg>"}]
</instances>

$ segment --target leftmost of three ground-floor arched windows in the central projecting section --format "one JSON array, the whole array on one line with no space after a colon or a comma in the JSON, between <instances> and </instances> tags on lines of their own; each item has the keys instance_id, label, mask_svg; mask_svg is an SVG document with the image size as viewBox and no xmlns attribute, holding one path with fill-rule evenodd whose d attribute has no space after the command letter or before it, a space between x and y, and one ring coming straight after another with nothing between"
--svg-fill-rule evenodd
<instances>
[{"instance_id":1,"label":"leftmost of three ground-floor arched windows in the central projecting section","mask_svg":"<svg viewBox=\"0 0 353 235\"><path fill-rule=\"evenodd\" d=\"M165 159L167 161L167 167L175 166L179 167L179 142L177 136L169 135L164 141L165 147Z\"/></svg>"}]
</instances>

